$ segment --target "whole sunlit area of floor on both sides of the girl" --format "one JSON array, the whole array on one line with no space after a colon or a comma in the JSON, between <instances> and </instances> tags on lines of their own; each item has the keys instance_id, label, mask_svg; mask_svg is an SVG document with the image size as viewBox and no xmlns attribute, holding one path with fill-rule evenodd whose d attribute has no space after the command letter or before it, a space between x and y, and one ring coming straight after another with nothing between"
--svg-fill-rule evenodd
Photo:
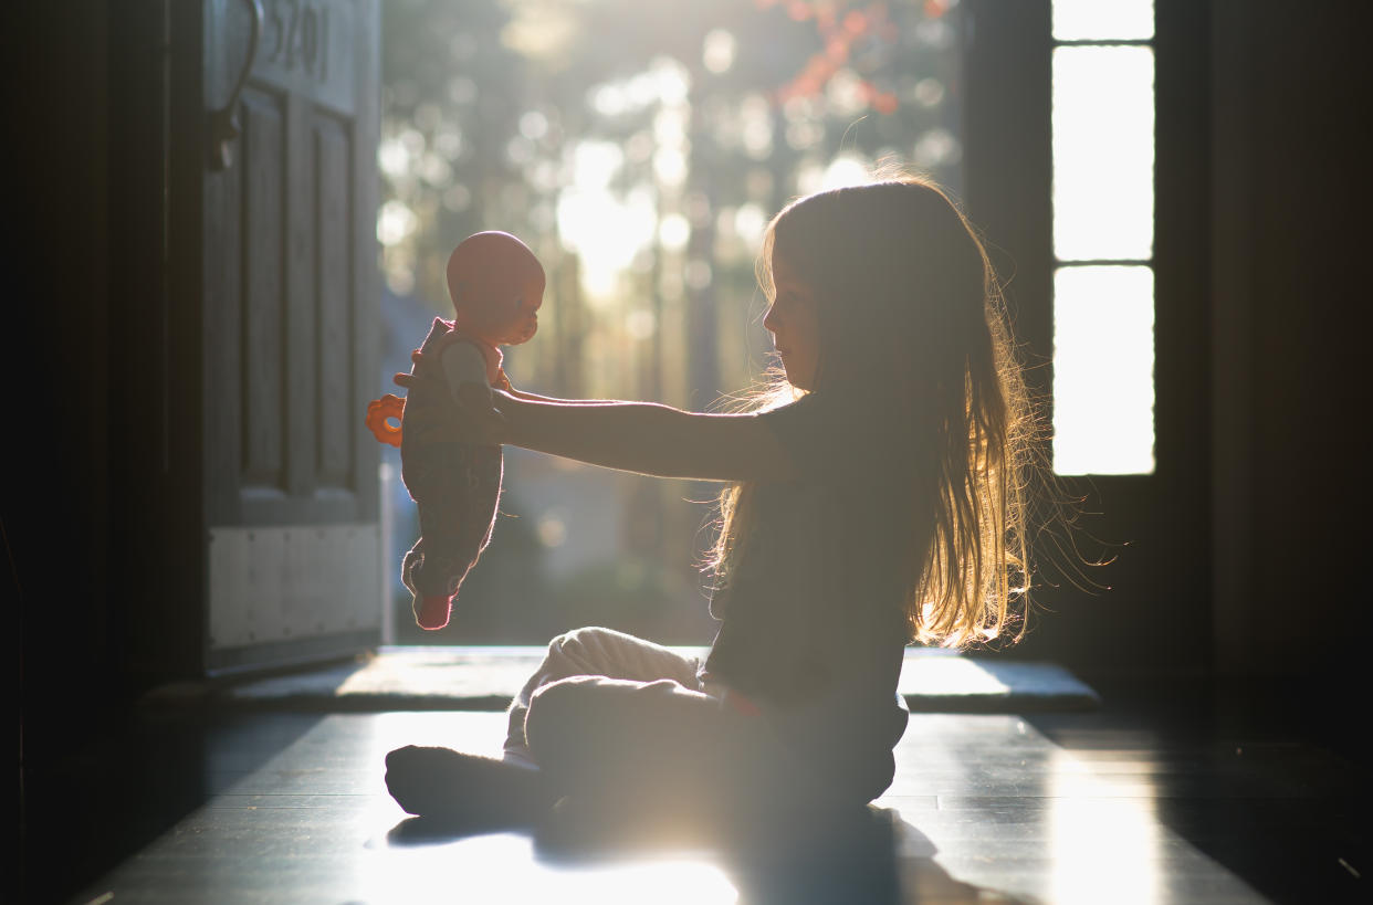
<instances>
[{"instance_id":1,"label":"whole sunlit area of floor on both sides of the girl","mask_svg":"<svg viewBox=\"0 0 1373 905\"><path fill-rule=\"evenodd\" d=\"M821 861L807 854L805 864L778 868L728 864L686 846L593 845L584 853L581 838L566 851L562 840L548 847L523 832L426 838L386 791L386 753L438 744L497 754L504 714L335 714L291 731L299 725L259 726L213 755L206 779L214 797L92 895L137 898L174 883L191 895L180 901L254 905L713 905L737 902L750 884L809 880L811 865L822 879L851 879L835 873L844 858L831 843L817 850ZM1162 750L1157 740L1118 743L1070 750L1013 715L913 715L897 747L895 781L873 812L891 821L891 836L859 851L854 876L884 871L895 898L879 901L1265 901L1168 823L1167 797L1192 773L1149 754ZM249 758L264 747L272 750L265 761Z\"/></svg>"}]
</instances>

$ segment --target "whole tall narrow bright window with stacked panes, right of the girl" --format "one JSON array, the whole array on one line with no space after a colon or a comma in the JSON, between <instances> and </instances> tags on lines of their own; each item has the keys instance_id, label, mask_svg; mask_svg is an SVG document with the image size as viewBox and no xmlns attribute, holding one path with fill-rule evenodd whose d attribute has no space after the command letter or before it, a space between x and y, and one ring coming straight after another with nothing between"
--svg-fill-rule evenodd
<instances>
[{"instance_id":1,"label":"whole tall narrow bright window with stacked panes, right of the girl","mask_svg":"<svg viewBox=\"0 0 1373 905\"><path fill-rule=\"evenodd\" d=\"M1152 474L1153 3L1053 3L1053 467Z\"/></svg>"}]
</instances>

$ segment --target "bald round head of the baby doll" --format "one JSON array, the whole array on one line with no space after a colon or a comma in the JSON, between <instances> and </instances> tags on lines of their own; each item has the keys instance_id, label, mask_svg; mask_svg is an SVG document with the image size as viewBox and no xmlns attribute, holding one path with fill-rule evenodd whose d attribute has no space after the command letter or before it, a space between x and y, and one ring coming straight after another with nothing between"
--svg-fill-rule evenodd
<instances>
[{"instance_id":1,"label":"bald round head of the baby doll","mask_svg":"<svg viewBox=\"0 0 1373 905\"><path fill-rule=\"evenodd\" d=\"M527 342L538 330L544 268L508 232L478 232L448 258L448 294L454 325L493 346Z\"/></svg>"}]
</instances>

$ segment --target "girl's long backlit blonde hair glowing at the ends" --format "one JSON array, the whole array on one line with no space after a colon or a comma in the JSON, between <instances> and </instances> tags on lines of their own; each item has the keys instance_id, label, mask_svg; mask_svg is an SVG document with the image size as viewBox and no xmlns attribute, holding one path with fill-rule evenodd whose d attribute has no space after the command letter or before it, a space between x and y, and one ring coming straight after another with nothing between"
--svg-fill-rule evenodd
<instances>
[{"instance_id":1,"label":"girl's long backlit blonde hair glowing at the ends","mask_svg":"<svg viewBox=\"0 0 1373 905\"><path fill-rule=\"evenodd\" d=\"M758 277L774 295L773 255L814 291L816 391L866 404L873 442L895 450L908 639L965 647L1017 640L1028 593L1026 485L1039 419L1026 394L986 250L935 184L902 177L788 205L768 225ZM776 375L748 408L796 398ZM754 488L719 497L707 566L728 581L754 522ZM1013 630L1012 630L1013 629Z\"/></svg>"}]
</instances>

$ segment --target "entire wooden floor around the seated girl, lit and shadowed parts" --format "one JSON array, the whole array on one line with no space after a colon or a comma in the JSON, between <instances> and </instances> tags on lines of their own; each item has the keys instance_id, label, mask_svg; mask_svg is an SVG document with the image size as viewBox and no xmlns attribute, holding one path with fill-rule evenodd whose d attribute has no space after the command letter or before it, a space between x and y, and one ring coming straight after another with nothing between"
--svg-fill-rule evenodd
<instances>
[{"instance_id":1,"label":"entire wooden floor around the seated girl, lit and shadowed parts","mask_svg":"<svg viewBox=\"0 0 1373 905\"><path fill-rule=\"evenodd\" d=\"M494 713L144 715L30 776L34 902L1362 902L1361 758L1185 689L1094 714L916 715L862 820L713 853L431 835L406 743L494 751ZM780 838L780 836L778 836Z\"/></svg>"}]
</instances>

